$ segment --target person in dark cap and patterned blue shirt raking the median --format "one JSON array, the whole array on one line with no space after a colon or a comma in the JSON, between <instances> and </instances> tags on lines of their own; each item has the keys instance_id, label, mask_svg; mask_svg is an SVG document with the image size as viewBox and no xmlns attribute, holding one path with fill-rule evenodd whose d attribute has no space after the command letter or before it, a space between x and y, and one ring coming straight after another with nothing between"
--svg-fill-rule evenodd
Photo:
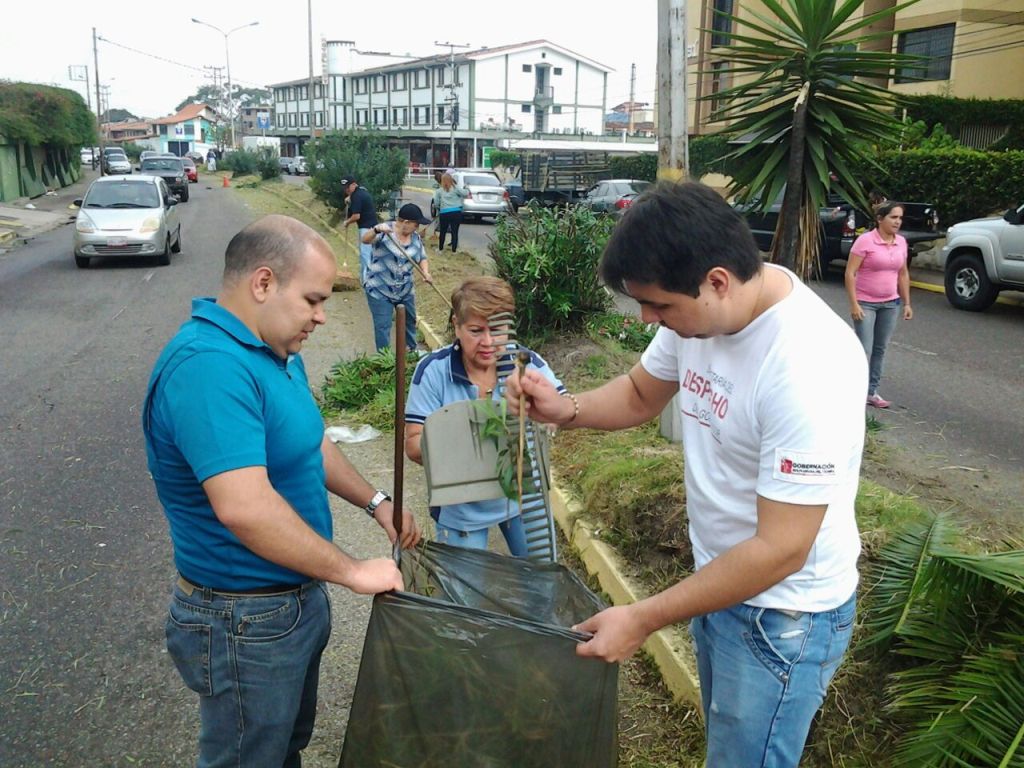
<instances>
[{"instance_id":1,"label":"person in dark cap and patterned blue shirt raking the median","mask_svg":"<svg viewBox=\"0 0 1024 768\"><path fill-rule=\"evenodd\" d=\"M394 221L376 224L362 236L364 244L372 251L362 289L374 318L374 343L378 352L391 345L391 315L398 305L406 307L406 346L416 349L415 267L412 262L419 265L427 283L433 282L427 251L417 231L420 224L429 223L430 219L423 215L418 205L407 203L398 209ZM402 343L401 339L396 343Z\"/></svg>"}]
</instances>

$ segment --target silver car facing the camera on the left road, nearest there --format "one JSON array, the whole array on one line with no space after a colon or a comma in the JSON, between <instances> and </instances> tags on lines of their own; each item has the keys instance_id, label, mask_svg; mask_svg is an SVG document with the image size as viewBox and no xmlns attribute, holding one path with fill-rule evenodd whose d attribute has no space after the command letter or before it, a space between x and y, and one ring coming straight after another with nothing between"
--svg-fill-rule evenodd
<instances>
[{"instance_id":1,"label":"silver car facing the camera on the left road, nearest there","mask_svg":"<svg viewBox=\"0 0 1024 768\"><path fill-rule=\"evenodd\" d=\"M171 263L181 251L178 201L159 176L101 176L76 200L75 264L89 266L96 256L154 255Z\"/></svg>"}]
</instances>

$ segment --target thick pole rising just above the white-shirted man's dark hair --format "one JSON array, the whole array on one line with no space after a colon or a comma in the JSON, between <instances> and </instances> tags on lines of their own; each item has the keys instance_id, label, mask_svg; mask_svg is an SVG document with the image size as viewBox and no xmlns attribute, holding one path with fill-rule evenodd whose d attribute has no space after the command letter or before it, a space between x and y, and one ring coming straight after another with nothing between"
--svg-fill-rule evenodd
<instances>
[{"instance_id":1,"label":"thick pole rising just above the white-shirted man's dark hair","mask_svg":"<svg viewBox=\"0 0 1024 768\"><path fill-rule=\"evenodd\" d=\"M689 168L686 135L686 2L657 0L657 176L685 180Z\"/></svg>"}]
</instances>

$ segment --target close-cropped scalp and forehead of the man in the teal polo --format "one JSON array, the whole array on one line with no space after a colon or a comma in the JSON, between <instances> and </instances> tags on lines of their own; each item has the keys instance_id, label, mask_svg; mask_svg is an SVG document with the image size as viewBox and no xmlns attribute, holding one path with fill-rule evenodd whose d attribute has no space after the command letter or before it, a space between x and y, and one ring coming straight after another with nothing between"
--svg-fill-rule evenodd
<instances>
[{"instance_id":1,"label":"close-cropped scalp and forehead of the man in the teal polo","mask_svg":"<svg viewBox=\"0 0 1024 768\"><path fill-rule=\"evenodd\" d=\"M312 252L334 258L331 246L298 219L270 214L256 219L231 238L224 253L224 285L232 286L261 266L286 285Z\"/></svg>"}]
</instances>

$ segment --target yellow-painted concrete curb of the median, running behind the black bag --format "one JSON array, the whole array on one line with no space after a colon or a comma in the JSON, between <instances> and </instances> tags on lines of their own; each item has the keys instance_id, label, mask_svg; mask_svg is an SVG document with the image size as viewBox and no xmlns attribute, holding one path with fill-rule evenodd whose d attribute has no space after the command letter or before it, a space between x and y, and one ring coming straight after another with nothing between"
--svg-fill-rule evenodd
<instances>
[{"instance_id":1,"label":"yellow-painted concrete curb of the median, running behind the black bag","mask_svg":"<svg viewBox=\"0 0 1024 768\"><path fill-rule=\"evenodd\" d=\"M425 321L418 319L417 325L431 349L446 343ZM613 604L628 605L647 596L646 590L626 574L617 553L581 519L579 506L555 483L554 478L551 481L551 510L565 539L587 566L587 572L597 578ZM667 627L648 637L643 647L654 658L665 684L676 700L699 710L700 684L688 635L674 627Z\"/></svg>"}]
</instances>

